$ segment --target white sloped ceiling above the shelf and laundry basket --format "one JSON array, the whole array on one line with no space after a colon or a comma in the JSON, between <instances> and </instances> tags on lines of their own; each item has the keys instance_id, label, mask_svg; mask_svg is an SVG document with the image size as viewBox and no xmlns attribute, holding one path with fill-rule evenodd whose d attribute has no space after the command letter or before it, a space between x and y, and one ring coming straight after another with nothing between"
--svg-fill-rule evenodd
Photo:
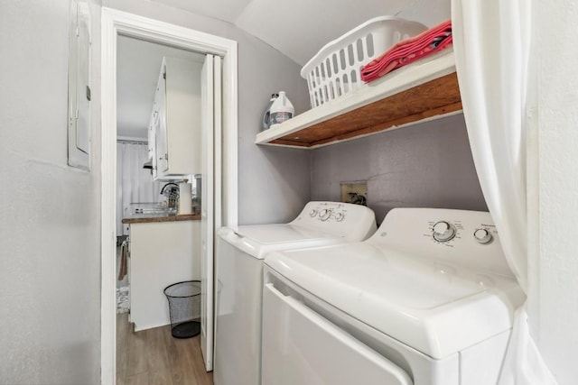
<instances>
[{"instance_id":1,"label":"white sloped ceiling above the shelf and laundry basket","mask_svg":"<svg viewBox=\"0 0 578 385\"><path fill-rule=\"evenodd\" d=\"M299 65L327 42L381 16L411 16L433 26L449 18L450 0L154 0L210 16L248 32ZM421 10L415 12L415 9ZM439 16L438 16L439 14Z\"/></svg>"}]
</instances>

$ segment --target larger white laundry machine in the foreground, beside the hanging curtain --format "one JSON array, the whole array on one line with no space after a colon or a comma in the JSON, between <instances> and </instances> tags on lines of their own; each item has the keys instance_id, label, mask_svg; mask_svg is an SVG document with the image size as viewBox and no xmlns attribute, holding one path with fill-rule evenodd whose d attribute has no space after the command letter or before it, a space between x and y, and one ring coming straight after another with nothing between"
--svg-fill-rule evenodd
<instances>
[{"instance_id":1,"label":"larger white laundry machine in the foreground, beside the hanging curtain","mask_svg":"<svg viewBox=\"0 0 578 385\"><path fill-rule=\"evenodd\" d=\"M525 299L489 213L397 208L366 242L267 256L264 385L496 384Z\"/></svg>"}]
</instances>

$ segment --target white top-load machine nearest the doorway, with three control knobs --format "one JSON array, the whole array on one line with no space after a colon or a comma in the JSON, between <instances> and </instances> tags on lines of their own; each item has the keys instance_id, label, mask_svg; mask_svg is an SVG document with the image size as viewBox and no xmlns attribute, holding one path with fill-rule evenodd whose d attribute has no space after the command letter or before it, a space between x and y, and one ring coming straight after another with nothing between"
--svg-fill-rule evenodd
<instances>
[{"instance_id":1,"label":"white top-load machine nearest the doorway, with three control knobs","mask_svg":"<svg viewBox=\"0 0 578 385\"><path fill-rule=\"evenodd\" d=\"M376 229L375 214L368 207L337 202L309 202L289 224L220 229L214 383L261 383L261 303L267 252L359 242Z\"/></svg>"}]
</instances>

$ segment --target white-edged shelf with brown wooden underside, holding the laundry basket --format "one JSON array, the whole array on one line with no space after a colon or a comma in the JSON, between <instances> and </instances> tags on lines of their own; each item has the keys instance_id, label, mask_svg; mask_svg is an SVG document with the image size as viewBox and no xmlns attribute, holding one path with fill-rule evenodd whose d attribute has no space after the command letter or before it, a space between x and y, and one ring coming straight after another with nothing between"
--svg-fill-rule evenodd
<instances>
[{"instance_id":1,"label":"white-edged shelf with brown wooden underside, holding the laundry basket","mask_svg":"<svg viewBox=\"0 0 578 385\"><path fill-rule=\"evenodd\" d=\"M452 48L274 124L257 144L314 149L461 112Z\"/></svg>"}]
</instances>

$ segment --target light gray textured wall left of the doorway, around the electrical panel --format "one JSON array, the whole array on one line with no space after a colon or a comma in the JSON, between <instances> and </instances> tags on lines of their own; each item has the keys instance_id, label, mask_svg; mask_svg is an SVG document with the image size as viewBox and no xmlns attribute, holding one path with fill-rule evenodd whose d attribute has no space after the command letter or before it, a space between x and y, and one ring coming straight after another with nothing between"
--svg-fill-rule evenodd
<instances>
[{"instance_id":1,"label":"light gray textured wall left of the doorway, around the electrical panel","mask_svg":"<svg viewBox=\"0 0 578 385\"><path fill-rule=\"evenodd\" d=\"M0 0L3 384L100 379L99 150L67 166L68 17L69 0ZM92 95L98 137L94 78Z\"/></svg>"}]
</instances>

